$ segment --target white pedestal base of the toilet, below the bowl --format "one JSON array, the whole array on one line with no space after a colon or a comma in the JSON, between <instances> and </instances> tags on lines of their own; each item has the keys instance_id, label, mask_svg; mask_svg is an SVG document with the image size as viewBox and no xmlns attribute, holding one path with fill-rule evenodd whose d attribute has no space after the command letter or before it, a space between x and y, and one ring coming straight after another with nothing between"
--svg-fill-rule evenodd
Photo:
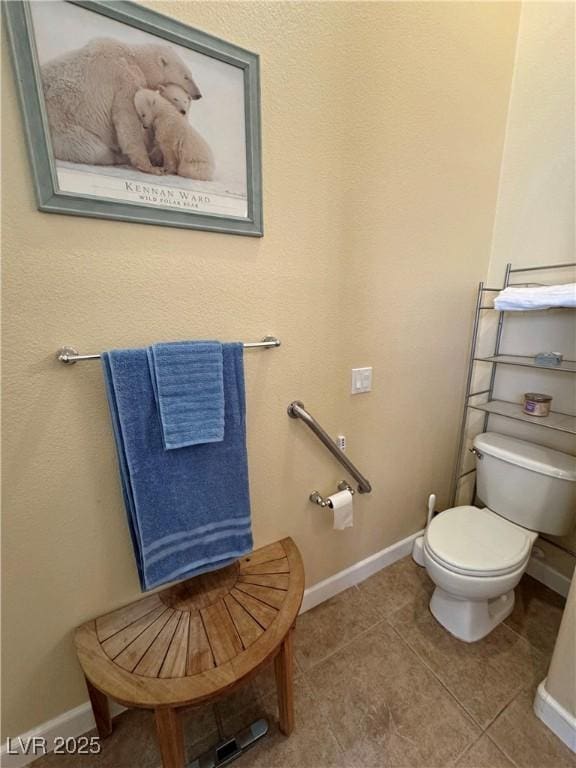
<instances>
[{"instance_id":1,"label":"white pedestal base of the toilet, below the bowl","mask_svg":"<svg viewBox=\"0 0 576 768\"><path fill-rule=\"evenodd\" d=\"M436 587L430 600L432 615L451 635L465 643L481 640L514 608L514 590L492 600L463 600Z\"/></svg>"}]
</instances>

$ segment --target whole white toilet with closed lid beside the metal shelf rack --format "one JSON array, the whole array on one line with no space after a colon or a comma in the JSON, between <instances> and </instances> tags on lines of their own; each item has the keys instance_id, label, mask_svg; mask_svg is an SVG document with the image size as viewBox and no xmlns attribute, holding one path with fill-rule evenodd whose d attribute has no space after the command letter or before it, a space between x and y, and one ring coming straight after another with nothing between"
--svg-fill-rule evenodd
<instances>
[{"instance_id":1,"label":"whole white toilet with closed lid beside the metal shelf rack","mask_svg":"<svg viewBox=\"0 0 576 768\"><path fill-rule=\"evenodd\" d=\"M494 432L474 439L477 495L486 505L434 517L420 543L436 584L435 618L460 640L480 640L514 607L538 533L569 533L576 458Z\"/></svg>"}]
</instances>

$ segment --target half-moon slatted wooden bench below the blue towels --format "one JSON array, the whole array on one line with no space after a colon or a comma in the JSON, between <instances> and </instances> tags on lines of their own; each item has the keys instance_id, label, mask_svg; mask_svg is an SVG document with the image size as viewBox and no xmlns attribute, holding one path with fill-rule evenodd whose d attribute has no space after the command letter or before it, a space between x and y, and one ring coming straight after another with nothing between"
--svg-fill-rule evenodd
<instances>
[{"instance_id":1,"label":"half-moon slatted wooden bench below the blue towels","mask_svg":"<svg viewBox=\"0 0 576 768\"><path fill-rule=\"evenodd\" d=\"M275 659L280 730L294 727L292 629L304 569L290 538L78 627L98 733L108 699L154 709L164 768L184 768L179 710L216 700Z\"/></svg>"}]
</instances>

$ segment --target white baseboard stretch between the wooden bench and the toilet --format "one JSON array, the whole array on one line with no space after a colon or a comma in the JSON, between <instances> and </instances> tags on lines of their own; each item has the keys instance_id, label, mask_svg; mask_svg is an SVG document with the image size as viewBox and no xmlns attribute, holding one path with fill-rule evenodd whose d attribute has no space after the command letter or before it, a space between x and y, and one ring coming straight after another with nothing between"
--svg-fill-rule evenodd
<instances>
[{"instance_id":1,"label":"white baseboard stretch between the wooden bench and the toilet","mask_svg":"<svg viewBox=\"0 0 576 768\"><path fill-rule=\"evenodd\" d=\"M387 565L392 565L397 560L401 560L406 555L412 552L412 543L418 536L422 536L423 531L413 533L411 536L407 536L402 541L397 541L396 544L392 544L386 549L376 552L365 560L360 560L359 563L354 563L349 568L346 568L339 573L335 573L334 576L330 576L324 581L314 584L304 592L304 599L302 601L302 608L300 613L309 611L310 608L314 608L316 605L323 603L334 595L343 592L348 587L353 587L355 584L359 584L369 576L381 571L382 568L386 568Z\"/></svg>"}]
</instances>

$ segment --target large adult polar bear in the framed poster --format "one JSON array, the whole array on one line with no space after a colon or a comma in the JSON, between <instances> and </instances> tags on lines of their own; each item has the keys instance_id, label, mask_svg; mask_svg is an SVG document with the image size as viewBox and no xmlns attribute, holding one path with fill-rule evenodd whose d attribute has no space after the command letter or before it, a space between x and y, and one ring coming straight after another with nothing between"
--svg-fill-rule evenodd
<instances>
[{"instance_id":1,"label":"large adult polar bear in the framed poster","mask_svg":"<svg viewBox=\"0 0 576 768\"><path fill-rule=\"evenodd\" d=\"M130 162L161 173L150 162L134 109L140 88L174 83L193 99L202 94L168 45L127 45L97 38L42 66L42 83L54 155L91 165Z\"/></svg>"}]
</instances>

